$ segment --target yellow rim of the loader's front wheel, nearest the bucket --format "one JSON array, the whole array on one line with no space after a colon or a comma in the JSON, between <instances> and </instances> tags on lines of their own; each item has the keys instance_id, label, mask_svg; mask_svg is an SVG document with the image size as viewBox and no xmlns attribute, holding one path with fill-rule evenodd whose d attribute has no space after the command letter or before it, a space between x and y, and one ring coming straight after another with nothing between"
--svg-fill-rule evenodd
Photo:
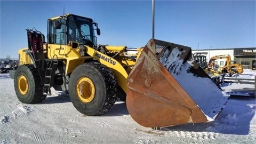
<instances>
[{"instance_id":1,"label":"yellow rim of the loader's front wheel, nearest the bucket","mask_svg":"<svg viewBox=\"0 0 256 144\"><path fill-rule=\"evenodd\" d=\"M88 77L81 77L76 84L76 93L80 101L91 102L95 97L95 86Z\"/></svg>"}]
</instances>

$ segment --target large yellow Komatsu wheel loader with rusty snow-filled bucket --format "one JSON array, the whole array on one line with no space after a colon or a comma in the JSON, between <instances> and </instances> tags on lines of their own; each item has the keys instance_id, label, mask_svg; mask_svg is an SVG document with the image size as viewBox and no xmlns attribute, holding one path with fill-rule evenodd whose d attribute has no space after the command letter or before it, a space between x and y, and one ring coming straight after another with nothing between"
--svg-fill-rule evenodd
<instances>
[{"instance_id":1,"label":"large yellow Komatsu wheel loader with rusty snow-filled bucket","mask_svg":"<svg viewBox=\"0 0 256 144\"><path fill-rule=\"evenodd\" d=\"M95 116L119 97L132 118L147 127L210 122L225 105L221 90L190 63L190 47L156 39L140 49L99 45L94 30L100 35L97 23L74 14L49 19L46 42L41 32L27 29L28 47L18 51L19 67L10 74L18 99L42 102L54 87L67 92L80 113ZM188 76L185 83L180 73ZM191 91L190 77L206 79L218 92L212 97L198 93L202 87Z\"/></svg>"}]
</instances>

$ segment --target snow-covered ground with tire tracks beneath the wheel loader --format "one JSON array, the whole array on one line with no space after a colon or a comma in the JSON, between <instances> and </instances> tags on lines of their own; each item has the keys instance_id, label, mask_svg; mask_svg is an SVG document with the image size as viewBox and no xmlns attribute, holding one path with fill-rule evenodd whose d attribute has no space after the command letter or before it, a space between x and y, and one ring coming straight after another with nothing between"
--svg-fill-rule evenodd
<instances>
[{"instance_id":1,"label":"snow-covered ground with tire tracks beneath the wheel loader","mask_svg":"<svg viewBox=\"0 0 256 144\"><path fill-rule=\"evenodd\" d=\"M245 70L239 76L255 75L256 71ZM225 83L221 87L235 91L255 85ZM122 101L102 116L82 115L60 92L36 105L21 103L9 74L0 75L0 97L0 143L256 143L252 97L230 97L216 121L161 130L134 122Z\"/></svg>"}]
</instances>

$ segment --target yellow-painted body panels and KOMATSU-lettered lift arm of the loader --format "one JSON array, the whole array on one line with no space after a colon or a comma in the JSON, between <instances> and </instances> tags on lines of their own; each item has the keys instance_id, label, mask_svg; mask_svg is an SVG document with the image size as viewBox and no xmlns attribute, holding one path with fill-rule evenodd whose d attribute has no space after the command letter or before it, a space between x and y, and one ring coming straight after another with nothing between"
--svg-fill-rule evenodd
<instances>
[{"instance_id":1,"label":"yellow-painted body panels and KOMATSU-lettered lift arm of the loader","mask_svg":"<svg viewBox=\"0 0 256 144\"><path fill-rule=\"evenodd\" d=\"M48 58L54 59L59 58L63 59L63 63L66 63L65 75L72 73L72 71L79 65L82 65L87 59L95 59L98 60L103 65L109 67L113 70L118 85L122 87L122 89L127 92L126 86L126 78L128 77L132 67L135 65L135 60L130 57L126 57L124 54L118 55L114 58L109 57L106 54L103 54L90 46L86 46L86 53L90 56L82 57L78 51L78 47L72 48L68 45L61 46L61 50L59 50L60 45L48 45ZM122 52L124 51L124 46L107 46L108 50L114 50L114 52ZM23 48L19 50L20 55L20 65L33 63L29 55L27 54L28 48ZM113 52L113 51L112 51ZM59 54L60 53L60 54Z\"/></svg>"}]
</instances>

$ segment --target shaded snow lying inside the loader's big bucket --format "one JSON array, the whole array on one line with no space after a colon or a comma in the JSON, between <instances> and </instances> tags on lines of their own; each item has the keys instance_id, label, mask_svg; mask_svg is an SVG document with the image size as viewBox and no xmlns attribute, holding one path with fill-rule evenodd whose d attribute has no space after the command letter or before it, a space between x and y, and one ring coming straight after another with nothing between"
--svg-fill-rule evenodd
<instances>
[{"instance_id":1,"label":"shaded snow lying inside the loader's big bucket","mask_svg":"<svg viewBox=\"0 0 256 144\"><path fill-rule=\"evenodd\" d=\"M198 77L191 73L192 61L183 63L183 60L180 59L181 54L178 47L171 52L167 49L160 61L203 113L208 116L207 119L213 121L225 106L229 95L220 90L210 78Z\"/></svg>"}]
</instances>

